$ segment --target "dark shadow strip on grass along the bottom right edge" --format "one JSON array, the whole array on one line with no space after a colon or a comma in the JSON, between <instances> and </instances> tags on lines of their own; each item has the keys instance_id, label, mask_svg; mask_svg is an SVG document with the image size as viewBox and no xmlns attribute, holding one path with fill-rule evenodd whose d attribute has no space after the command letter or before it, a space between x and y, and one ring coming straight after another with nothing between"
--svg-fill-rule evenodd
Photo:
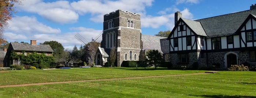
<instances>
[{"instance_id":1,"label":"dark shadow strip on grass along the bottom right edge","mask_svg":"<svg viewBox=\"0 0 256 98\"><path fill-rule=\"evenodd\" d=\"M256 98L256 96L241 96L241 95L192 95L204 98Z\"/></svg>"}]
</instances>

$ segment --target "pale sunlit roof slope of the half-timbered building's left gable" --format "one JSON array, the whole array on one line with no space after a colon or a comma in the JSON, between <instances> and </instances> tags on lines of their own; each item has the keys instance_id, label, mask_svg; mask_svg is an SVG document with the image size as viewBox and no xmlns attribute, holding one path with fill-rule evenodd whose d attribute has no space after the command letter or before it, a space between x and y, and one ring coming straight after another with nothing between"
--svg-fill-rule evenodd
<instances>
[{"instance_id":1,"label":"pale sunlit roof slope of the half-timbered building's left gable","mask_svg":"<svg viewBox=\"0 0 256 98\"><path fill-rule=\"evenodd\" d=\"M185 19L185 18L181 18L185 24L187 24L189 26L189 28L191 30L194 31L194 33L196 33L197 35L202 35L202 36L207 36L201 23L197 22L197 21L193 21L193 20L189 20L189 19Z\"/></svg>"}]
</instances>

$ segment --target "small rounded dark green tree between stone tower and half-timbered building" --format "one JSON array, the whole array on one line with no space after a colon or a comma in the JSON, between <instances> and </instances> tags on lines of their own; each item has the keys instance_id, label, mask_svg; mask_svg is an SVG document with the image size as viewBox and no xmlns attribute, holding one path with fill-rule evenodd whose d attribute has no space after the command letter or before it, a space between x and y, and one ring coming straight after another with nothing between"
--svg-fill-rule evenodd
<instances>
[{"instance_id":1,"label":"small rounded dark green tree between stone tower and half-timbered building","mask_svg":"<svg viewBox=\"0 0 256 98\"><path fill-rule=\"evenodd\" d=\"M146 56L146 62L150 66L153 65L155 68L158 67L164 60L161 53L158 50L149 50L148 52L146 52Z\"/></svg>"}]
</instances>

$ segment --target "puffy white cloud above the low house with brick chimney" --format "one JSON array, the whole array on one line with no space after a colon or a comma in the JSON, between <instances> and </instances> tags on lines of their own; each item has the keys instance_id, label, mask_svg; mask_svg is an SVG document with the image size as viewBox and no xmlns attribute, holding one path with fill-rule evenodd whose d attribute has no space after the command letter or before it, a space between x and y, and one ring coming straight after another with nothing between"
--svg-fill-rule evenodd
<instances>
[{"instance_id":1,"label":"puffy white cloud above the low house with brick chimney","mask_svg":"<svg viewBox=\"0 0 256 98\"><path fill-rule=\"evenodd\" d=\"M53 29L37 21L36 17L16 16L9 21L5 30L16 33L60 33L60 29Z\"/></svg>"}]
</instances>

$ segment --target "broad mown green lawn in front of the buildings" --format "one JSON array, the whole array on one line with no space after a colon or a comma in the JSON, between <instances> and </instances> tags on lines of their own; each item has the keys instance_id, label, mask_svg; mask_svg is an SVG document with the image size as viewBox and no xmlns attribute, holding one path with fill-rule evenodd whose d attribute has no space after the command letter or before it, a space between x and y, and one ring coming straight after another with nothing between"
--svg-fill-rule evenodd
<instances>
[{"instance_id":1,"label":"broad mown green lawn in front of the buildings","mask_svg":"<svg viewBox=\"0 0 256 98\"><path fill-rule=\"evenodd\" d=\"M1 85L196 73L197 71L79 68L1 72ZM198 71L205 72L205 71ZM30 78L31 77L31 78ZM256 72L118 79L0 88L0 97L26 98L256 98Z\"/></svg>"}]
</instances>

